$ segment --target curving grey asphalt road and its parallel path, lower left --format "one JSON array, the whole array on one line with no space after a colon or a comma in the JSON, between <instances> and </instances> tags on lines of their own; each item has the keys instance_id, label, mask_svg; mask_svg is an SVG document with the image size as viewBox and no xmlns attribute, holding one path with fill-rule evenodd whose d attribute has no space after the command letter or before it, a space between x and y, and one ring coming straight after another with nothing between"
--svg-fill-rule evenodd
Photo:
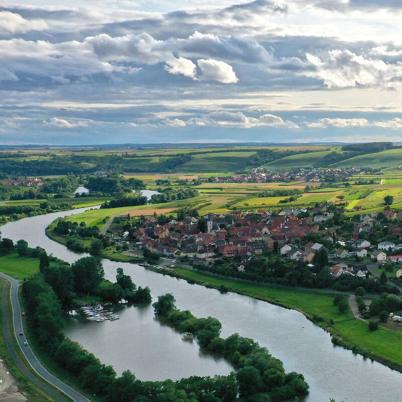
<instances>
[{"instance_id":1,"label":"curving grey asphalt road and its parallel path, lower left","mask_svg":"<svg viewBox=\"0 0 402 402\"><path fill-rule=\"evenodd\" d=\"M49 395L51 395L54 399L56 399L59 402L66 402L67 398L64 398L63 396L57 394L51 387L41 383L38 381L35 376L33 376L24 366L22 360L16 353L15 347L12 344L10 333L9 333L9 328L8 328L8 323L9 323L9 312L7 308L7 282L4 279L7 279L10 284L11 284L11 289L10 289L10 295L11 295L11 304L12 304L12 310L13 310L13 327L14 327L14 332L17 338L17 342L28 360L28 363L31 365L31 367L36 371L36 373L41 376L43 379L45 379L47 382L58 388L60 391L65 393L67 396L69 396L72 400L75 402L90 402L88 398L85 396L81 395L79 392L77 392L75 389L71 388L64 382L60 381L58 378L56 378L54 375L50 374L49 371L47 371L42 364L38 361L36 356L34 355L34 352L30 348L29 345L24 345L25 336L20 336L17 334L20 334L21 332L24 332L23 330L23 324L22 324L22 315L21 315L21 308L20 308L20 302L18 299L18 287L19 287L19 281L9 275L6 275L4 273L0 273L0 277L2 277L2 281L6 286L4 286L4 291L3 291L3 299L2 299L2 306L3 306L3 332L4 332L4 337L6 340L6 345L7 348L10 351L10 354L17 364L17 367L21 370L21 372L33 383L38 385L40 388L42 388L45 392L47 392ZM4 279L3 279L4 278Z\"/></svg>"}]
</instances>

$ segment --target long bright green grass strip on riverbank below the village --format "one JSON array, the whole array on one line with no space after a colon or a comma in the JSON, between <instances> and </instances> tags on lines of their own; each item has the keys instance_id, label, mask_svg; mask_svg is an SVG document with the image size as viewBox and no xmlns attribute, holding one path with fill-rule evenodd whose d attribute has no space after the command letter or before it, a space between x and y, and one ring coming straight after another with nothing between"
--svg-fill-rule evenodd
<instances>
[{"instance_id":1,"label":"long bright green grass strip on riverbank below the village","mask_svg":"<svg viewBox=\"0 0 402 402\"><path fill-rule=\"evenodd\" d=\"M347 349L376 360L395 370L402 371L402 333L379 328L369 331L367 323L353 317L350 310L341 314L334 306L333 294L269 286L236 279L222 278L186 268L157 272L180 277L195 283L219 289L225 285L229 291L245 294L285 308L297 310L338 338L336 342ZM317 322L314 316L323 321ZM332 321L333 320L333 324ZM335 339L334 339L335 340Z\"/></svg>"}]
</instances>

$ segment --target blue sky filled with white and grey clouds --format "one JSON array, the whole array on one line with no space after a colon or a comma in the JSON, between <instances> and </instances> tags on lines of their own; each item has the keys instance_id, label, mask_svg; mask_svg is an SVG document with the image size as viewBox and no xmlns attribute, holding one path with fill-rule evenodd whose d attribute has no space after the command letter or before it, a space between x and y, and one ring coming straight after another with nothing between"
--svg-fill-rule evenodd
<instances>
[{"instance_id":1,"label":"blue sky filled with white and grey clouds","mask_svg":"<svg viewBox=\"0 0 402 402\"><path fill-rule=\"evenodd\" d=\"M0 144L402 141L401 28L402 0L0 0Z\"/></svg>"}]
</instances>

